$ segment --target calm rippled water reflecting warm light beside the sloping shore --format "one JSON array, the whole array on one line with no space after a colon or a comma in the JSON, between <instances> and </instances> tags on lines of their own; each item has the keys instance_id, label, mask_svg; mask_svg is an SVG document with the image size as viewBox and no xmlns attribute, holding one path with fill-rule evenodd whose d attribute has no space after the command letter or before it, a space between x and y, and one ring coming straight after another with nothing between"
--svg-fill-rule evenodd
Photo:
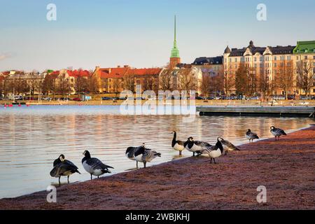
<instances>
[{"instance_id":1,"label":"calm rippled water reflecting warm light beside the sloping shore","mask_svg":"<svg viewBox=\"0 0 315 224\"><path fill-rule=\"evenodd\" d=\"M216 138L222 136L242 144L248 142L244 138L248 128L267 138L271 137L271 125L290 132L312 123L314 120L308 118L225 116L197 116L193 123L183 123L183 116L122 116L119 106L1 106L0 198L56 185L58 180L49 173L53 160L61 153L82 173L70 177L73 183L90 179L80 162L85 150L115 167L116 174L135 168L136 163L125 157L125 150L143 142L162 153L149 166L179 159L171 147L174 130L181 140L192 136L215 144ZM184 151L183 158L191 154ZM66 183L66 177L62 177L62 183Z\"/></svg>"}]
</instances>

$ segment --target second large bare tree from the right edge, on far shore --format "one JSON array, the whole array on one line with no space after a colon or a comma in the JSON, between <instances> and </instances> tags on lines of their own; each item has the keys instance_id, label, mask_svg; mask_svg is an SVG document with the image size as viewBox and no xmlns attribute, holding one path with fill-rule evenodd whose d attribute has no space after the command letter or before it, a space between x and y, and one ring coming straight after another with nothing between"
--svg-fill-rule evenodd
<instances>
[{"instance_id":1,"label":"second large bare tree from the right edge, on far shore","mask_svg":"<svg viewBox=\"0 0 315 224\"><path fill-rule=\"evenodd\" d=\"M288 99L288 90L293 87L293 61L283 61L276 71L275 86L280 87Z\"/></svg>"}]
</instances>

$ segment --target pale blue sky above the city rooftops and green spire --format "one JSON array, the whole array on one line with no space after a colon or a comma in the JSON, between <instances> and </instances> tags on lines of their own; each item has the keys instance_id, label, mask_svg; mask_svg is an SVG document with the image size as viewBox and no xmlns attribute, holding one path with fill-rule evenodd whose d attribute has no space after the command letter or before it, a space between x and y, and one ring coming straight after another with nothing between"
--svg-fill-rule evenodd
<instances>
[{"instance_id":1,"label":"pale blue sky above the city rooftops and green spire","mask_svg":"<svg viewBox=\"0 0 315 224\"><path fill-rule=\"evenodd\" d=\"M48 21L49 3L57 20ZM267 7L258 21L257 6ZM181 61L315 40L314 0L0 0L0 71L137 68L169 62L174 15Z\"/></svg>"}]
</instances>

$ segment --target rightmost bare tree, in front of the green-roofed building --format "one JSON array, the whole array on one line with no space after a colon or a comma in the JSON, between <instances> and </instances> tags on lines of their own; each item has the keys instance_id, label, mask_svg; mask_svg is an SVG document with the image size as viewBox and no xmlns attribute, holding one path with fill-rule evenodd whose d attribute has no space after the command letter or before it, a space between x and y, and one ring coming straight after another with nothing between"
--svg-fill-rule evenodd
<instances>
[{"instance_id":1,"label":"rightmost bare tree, in front of the green-roofed building","mask_svg":"<svg viewBox=\"0 0 315 224\"><path fill-rule=\"evenodd\" d=\"M306 95L311 94L311 87L314 84L313 66L311 60L302 60L297 62L297 86L304 90Z\"/></svg>"}]
</instances>

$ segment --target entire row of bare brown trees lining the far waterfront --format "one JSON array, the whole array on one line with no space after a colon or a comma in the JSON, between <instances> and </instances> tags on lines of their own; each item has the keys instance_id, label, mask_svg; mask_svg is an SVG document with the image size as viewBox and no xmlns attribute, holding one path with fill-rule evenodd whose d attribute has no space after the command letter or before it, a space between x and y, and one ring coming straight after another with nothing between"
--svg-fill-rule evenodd
<instances>
[{"instance_id":1,"label":"entire row of bare brown trees lining the far waterfront","mask_svg":"<svg viewBox=\"0 0 315 224\"><path fill-rule=\"evenodd\" d=\"M207 69L207 67L206 67ZM294 67L293 61L283 61L274 67L273 78L269 79L269 73L265 71L256 73L256 69L247 67L245 64L239 64L239 67L233 76L223 71L216 75L204 73L202 75L201 90L204 96L209 94L230 94L236 90L238 95L251 97L257 94L263 97L270 96L276 88L280 88L288 97L289 90L298 88L304 90L306 94L311 94L314 87L314 66L311 60L297 62ZM22 78L22 76L6 77L0 79L0 94L31 94L42 92L43 94L61 94L66 96L73 92L81 94L87 92L97 94L99 89L109 85L109 83L99 82L97 77L78 76L71 79L66 74L56 76L47 75L44 79ZM1 77L0 77L1 78ZM143 76L136 78L132 74L126 74L123 78L113 78L109 92L120 92L122 90L135 90L136 84L142 85L142 90L197 90L197 76L193 68L186 69L165 69L159 77Z\"/></svg>"}]
</instances>

